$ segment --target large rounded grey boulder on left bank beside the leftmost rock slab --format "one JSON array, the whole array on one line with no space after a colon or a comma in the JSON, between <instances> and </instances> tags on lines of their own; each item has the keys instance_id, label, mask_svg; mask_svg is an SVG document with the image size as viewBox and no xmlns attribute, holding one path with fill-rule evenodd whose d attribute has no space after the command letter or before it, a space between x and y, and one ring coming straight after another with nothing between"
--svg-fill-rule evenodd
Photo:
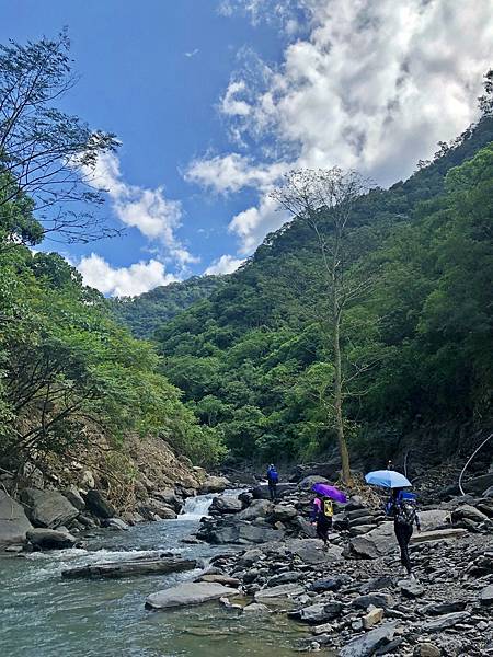
<instances>
[{"instance_id":1,"label":"large rounded grey boulder on left bank beside the leftmost rock slab","mask_svg":"<svg viewBox=\"0 0 493 657\"><path fill-rule=\"evenodd\" d=\"M79 510L58 491L25 488L21 493L21 499L34 527L56 529L79 515Z\"/></svg>"}]
</instances>

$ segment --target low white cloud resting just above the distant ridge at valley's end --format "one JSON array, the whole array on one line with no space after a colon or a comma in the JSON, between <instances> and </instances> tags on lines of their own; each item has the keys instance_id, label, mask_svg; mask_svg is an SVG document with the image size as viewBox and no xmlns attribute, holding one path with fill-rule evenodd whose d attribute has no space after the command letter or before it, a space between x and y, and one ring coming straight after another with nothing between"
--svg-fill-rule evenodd
<instances>
[{"instance_id":1,"label":"low white cloud resting just above the distant ridge at valley's end","mask_svg":"<svg viewBox=\"0 0 493 657\"><path fill-rule=\"evenodd\" d=\"M153 258L147 263L114 268L103 257L91 253L82 257L77 268L82 274L84 285L115 297L134 297L177 280L172 274L167 274L162 263Z\"/></svg>"}]
</instances>

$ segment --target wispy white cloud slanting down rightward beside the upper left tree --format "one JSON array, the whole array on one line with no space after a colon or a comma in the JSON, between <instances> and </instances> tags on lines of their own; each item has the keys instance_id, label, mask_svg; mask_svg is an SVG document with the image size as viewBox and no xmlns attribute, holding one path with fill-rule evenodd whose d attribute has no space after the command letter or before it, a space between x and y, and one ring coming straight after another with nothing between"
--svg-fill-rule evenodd
<instances>
[{"instance_id":1,"label":"wispy white cloud slanting down rightward beside the upper left tree","mask_svg":"<svg viewBox=\"0 0 493 657\"><path fill-rule=\"evenodd\" d=\"M93 185L107 191L113 209L125 226L136 228L150 241L164 246L167 256L180 266L198 262L175 235L182 222L182 206L177 200L165 198L162 187L146 189L124 182L114 153L100 155L89 177Z\"/></svg>"}]
</instances>

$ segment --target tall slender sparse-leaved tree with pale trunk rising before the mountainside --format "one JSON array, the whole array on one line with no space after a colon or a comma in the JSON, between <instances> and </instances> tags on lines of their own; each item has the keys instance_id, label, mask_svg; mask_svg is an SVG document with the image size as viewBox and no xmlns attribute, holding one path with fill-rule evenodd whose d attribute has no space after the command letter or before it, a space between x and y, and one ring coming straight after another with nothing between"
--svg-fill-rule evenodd
<instances>
[{"instance_id":1,"label":"tall slender sparse-leaved tree with pale trunk rising before the mountainside","mask_svg":"<svg viewBox=\"0 0 493 657\"><path fill-rule=\"evenodd\" d=\"M279 207L307 222L313 230L320 247L324 284L328 293L329 324L332 339L334 381L333 407L342 477L351 483L351 466L344 431L342 322L347 307L366 295L371 280L349 275L347 233L356 200L370 187L357 172L330 170L300 170L285 175L284 185L274 189L272 197Z\"/></svg>"}]
</instances>

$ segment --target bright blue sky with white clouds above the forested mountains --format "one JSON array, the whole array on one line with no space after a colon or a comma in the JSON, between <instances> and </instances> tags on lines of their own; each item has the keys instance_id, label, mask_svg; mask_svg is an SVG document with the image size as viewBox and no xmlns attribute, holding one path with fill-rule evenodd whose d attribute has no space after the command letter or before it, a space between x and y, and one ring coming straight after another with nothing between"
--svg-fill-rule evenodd
<instances>
[{"instance_id":1,"label":"bright blue sky with white clouds above the forested mountains","mask_svg":"<svg viewBox=\"0 0 493 657\"><path fill-rule=\"evenodd\" d=\"M62 107L122 140L100 174L125 237L57 246L108 295L232 270L287 219L268 189L293 166L409 175L475 118L493 59L489 0L0 4L2 43L68 26Z\"/></svg>"}]
</instances>

